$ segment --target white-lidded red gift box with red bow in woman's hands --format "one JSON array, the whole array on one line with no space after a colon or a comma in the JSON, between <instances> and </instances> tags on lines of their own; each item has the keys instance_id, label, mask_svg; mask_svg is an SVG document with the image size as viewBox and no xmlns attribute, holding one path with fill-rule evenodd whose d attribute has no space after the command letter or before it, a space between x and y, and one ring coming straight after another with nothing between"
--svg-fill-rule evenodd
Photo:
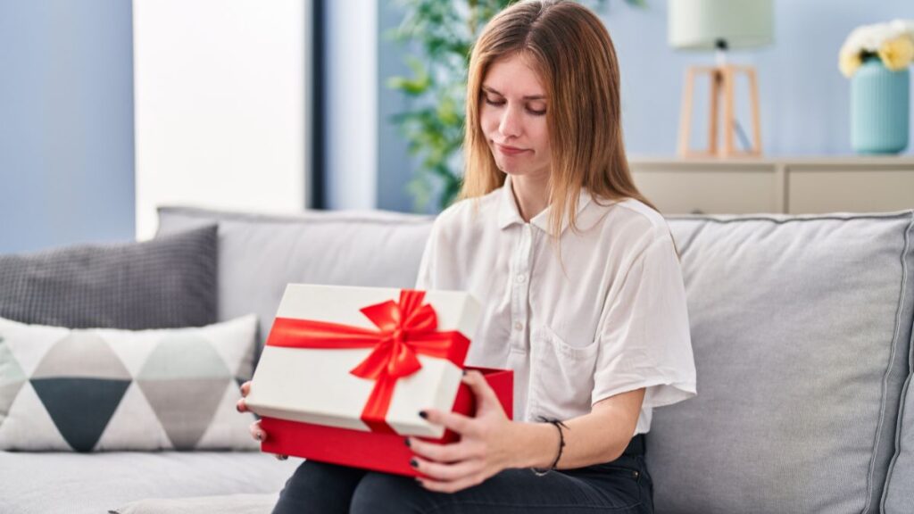
<instances>
[{"instance_id":1,"label":"white-lidded red gift box with red bow in woman's hands","mask_svg":"<svg viewBox=\"0 0 914 514\"><path fill-rule=\"evenodd\" d=\"M419 412L474 412L462 365L480 316L469 294L289 284L247 404L265 452L416 475L407 435L457 440ZM511 415L511 371L481 369Z\"/></svg>"}]
</instances>

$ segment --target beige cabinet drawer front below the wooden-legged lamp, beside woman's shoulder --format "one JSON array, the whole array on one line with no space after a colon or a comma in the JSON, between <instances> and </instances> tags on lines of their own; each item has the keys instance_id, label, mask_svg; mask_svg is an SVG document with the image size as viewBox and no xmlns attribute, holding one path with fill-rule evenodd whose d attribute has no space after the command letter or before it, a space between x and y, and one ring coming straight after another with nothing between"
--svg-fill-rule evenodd
<instances>
[{"instance_id":1,"label":"beige cabinet drawer front below the wooden-legged lamp, beside woman's shoulder","mask_svg":"<svg viewBox=\"0 0 914 514\"><path fill-rule=\"evenodd\" d=\"M632 169L635 185L664 214L781 212L773 170Z\"/></svg>"}]
</instances>

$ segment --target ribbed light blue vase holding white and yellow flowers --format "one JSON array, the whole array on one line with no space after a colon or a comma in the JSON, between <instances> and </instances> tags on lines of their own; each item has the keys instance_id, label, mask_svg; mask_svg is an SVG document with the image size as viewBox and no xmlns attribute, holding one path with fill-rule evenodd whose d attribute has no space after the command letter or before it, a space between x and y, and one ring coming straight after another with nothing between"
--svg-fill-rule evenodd
<instances>
[{"instance_id":1,"label":"ribbed light blue vase holding white and yellow flowers","mask_svg":"<svg viewBox=\"0 0 914 514\"><path fill-rule=\"evenodd\" d=\"M851 79L851 146L859 154L897 154L908 146L910 74L869 58Z\"/></svg>"}]
</instances>

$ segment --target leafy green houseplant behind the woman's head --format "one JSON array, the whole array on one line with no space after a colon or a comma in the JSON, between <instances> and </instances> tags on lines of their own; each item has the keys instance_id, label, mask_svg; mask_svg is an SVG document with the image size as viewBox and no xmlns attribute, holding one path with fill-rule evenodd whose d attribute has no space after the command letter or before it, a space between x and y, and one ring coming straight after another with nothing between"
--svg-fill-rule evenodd
<instances>
[{"instance_id":1,"label":"leafy green houseplant behind the woman's head","mask_svg":"<svg viewBox=\"0 0 914 514\"><path fill-rule=\"evenodd\" d=\"M624 0L644 6L645 0ZM416 176L407 186L417 209L437 198L439 209L460 192L462 178L464 95L473 41L485 24L515 0L398 0L404 11L390 34L410 42L419 55L408 55L409 77L393 77L388 87L409 98L410 108L394 121L418 159ZM606 0L591 4L603 5Z\"/></svg>"}]
</instances>

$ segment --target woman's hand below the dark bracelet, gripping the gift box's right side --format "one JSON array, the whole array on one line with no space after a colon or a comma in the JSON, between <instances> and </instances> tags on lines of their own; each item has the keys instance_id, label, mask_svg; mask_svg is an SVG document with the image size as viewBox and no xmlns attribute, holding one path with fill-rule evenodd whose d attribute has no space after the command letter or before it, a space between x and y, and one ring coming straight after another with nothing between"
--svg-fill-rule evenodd
<instances>
[{"instance_id":1,"label":"woman's hand below the dark bracelet, gripping the gift box's right side","mask_svg":"<svg viewBox=\"0 0 914 514\"><path fill-rule=\"evenodd\" d=\"M516 456L515 423L505 415L483 374L469 371L463 383L470 386L476 397L475 417L433 409L423 411L430 423L444 425L460 434L459 442L436 444L407 438L407 444L416 454L410 464L425 476L417 480L432 491L452 493L481 484L511 467Z\"/></svg>"}]
</instances>

